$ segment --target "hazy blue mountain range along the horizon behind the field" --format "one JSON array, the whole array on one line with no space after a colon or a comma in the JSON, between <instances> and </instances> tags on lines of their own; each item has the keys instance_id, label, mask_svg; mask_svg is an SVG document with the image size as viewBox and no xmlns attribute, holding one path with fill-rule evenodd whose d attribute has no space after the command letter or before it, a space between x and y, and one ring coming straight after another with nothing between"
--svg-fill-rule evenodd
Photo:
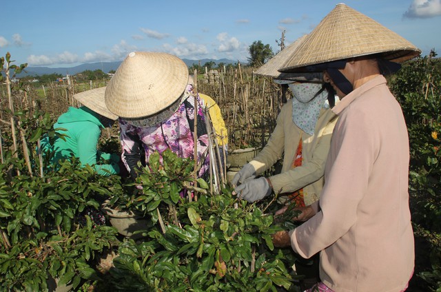
<instances>
[{"instance_id":1,"label":"hazy blue mountain range along the horizon behind the field","mask_svg":"<svg viewBox=\"0 0 441 292\"><path fill-rule=\"evenodd\" d=\"M188 60L183 59L184 63L189 67L193 64L201 64L204 65L207 62L213 61L214 63L224 63L227 64L235 64L237 61L232 61L229 59L201 59L201 60ZM110 70L118 69L119 65L121 64L121 61L119 62L100 62L100 63L85 63L74 67L59 67L59 68L50 68L50 67L26 67L26 72L22 72L21 74L18 74L17 77L23 77L23 76L41 76L44 74L61 74L65 76L66 74L74 75L80 72L83 72L85 70L103 70L103 72L107 73Z\"/></svg>"}]
</instances>

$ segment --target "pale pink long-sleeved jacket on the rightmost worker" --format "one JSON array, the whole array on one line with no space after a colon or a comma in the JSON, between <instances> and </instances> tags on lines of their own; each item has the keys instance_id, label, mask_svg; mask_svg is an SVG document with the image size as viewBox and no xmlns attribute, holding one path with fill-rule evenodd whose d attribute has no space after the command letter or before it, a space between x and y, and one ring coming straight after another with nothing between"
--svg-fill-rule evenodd
<instances>
[{"instance_id":1,"label":"pale pink long-sleeved jacket on the rightmost worker","mask_svg":"<svg viewBox=\"0 0 441 292\"><path fill-rule=\"evenodd\" d=\"M383 76L333 111L325 187L316 215L290 231L305 258L320 251L320 278L334 291L402 291L414 266L409 211L409 140Z\"/></svg>"}]
</instances>

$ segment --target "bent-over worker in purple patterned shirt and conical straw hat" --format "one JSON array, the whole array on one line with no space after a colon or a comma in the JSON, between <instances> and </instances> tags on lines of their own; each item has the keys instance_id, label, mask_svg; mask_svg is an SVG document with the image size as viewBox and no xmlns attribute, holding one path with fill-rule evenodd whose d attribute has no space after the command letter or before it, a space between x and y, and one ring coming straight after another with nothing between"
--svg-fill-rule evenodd
<instances>
[{"instance_id":1,"label":"bent-over worker in purple patterned shirt and conical straw hat","mask_svg":"<svg viewBox=\"0 0 441 292\"><path fill-rule=\"evenodd\" d=\"M207 171L208 135L203 103L187 81L187 65L176 56L132 52L107 85L105 103L120 117L122 160L133 178L144 153L141 163L147 163L151 154L162 154L165 149L181 158L194 158L196 147L198 162L203 161L198 177Z\"/></svg>"}]
</instances>

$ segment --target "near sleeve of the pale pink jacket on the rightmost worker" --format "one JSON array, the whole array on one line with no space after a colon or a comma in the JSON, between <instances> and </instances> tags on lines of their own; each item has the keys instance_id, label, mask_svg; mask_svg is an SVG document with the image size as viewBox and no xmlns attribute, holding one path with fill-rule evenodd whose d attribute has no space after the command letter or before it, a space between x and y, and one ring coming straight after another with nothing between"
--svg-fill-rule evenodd
<instances>
[{"instance_id":1,"label":"near sleeve of the pale pink jacket on the rightmost worker","mask_svg":"<svg viewBox=\"0 0 441 292\"><path fill-rule=\"evenodd\" d=\"M349 115L349 114L348 114ZM339 126L340 125L340 126ZM304 258L329 247L356 224L360 200L365 196L378 139L363 112L340 116L331 145L320 211L289 231L291 247ZM354 165L356 162L356 165Z\"/></svg>"}]
</instances>

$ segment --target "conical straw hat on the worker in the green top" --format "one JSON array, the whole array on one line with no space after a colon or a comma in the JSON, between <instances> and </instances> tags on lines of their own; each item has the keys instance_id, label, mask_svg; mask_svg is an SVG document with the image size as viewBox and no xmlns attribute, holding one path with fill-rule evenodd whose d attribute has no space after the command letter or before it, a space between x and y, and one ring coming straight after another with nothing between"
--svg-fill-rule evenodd
<instances>
[{"instance_id":1,"label":"conical straw hat on the worker in the green top","mask_svg":"<svg viewBox=\"0 0 441 292\"><path fill-rule=\"evenodd\" d=\"M74 98L77 101L79 101L82 105L85 105L85 107L90 108L90 110L93 110L98 114L101 114L101 116L105 116L106 118L116 120L118 116L110 112L110 110L107 109L107 107L105 106L104 93L105 93L105 87L100 87L94 90L88 90L85 92L74 94Z\"/></svg>"}]
</instances>

